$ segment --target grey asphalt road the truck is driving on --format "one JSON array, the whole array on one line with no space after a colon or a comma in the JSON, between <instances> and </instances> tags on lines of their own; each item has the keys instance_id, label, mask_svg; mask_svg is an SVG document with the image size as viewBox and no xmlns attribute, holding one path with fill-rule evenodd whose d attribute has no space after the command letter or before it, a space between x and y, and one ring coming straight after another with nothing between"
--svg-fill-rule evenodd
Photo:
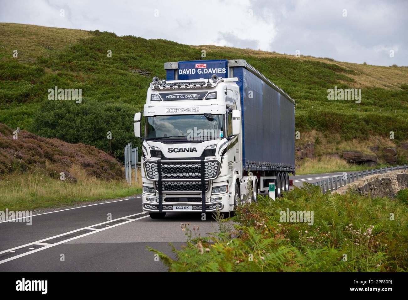
<instances>
[{"instance_id":1,"label":"grey asphalt road the truck is driving on","mask_svg":"<svg viewBox=\"0 0 408 300\"><path fill-rule=\"evenodd\" d=\"M291 176L294 185L340 173ZM166 271L147 246L174 257L171 246L186 241L181 223L217 231L211 216L168 213L151 219L142 198L105 202L34 215L25 222L0 223L0 271ZM111 218L108 221L108 216ZM21 220L20 220L21 221Z\"/></svg>"}]
</instances>

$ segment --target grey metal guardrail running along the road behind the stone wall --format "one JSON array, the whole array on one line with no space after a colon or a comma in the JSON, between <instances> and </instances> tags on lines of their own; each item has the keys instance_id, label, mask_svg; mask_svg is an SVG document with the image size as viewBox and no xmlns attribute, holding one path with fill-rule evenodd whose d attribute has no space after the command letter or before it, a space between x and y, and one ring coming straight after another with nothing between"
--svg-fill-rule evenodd
<instances>
[{"instance_id":1,"label":"grey metal guardrail running along the road behind the stone wall","mask_svg":"<svg viewBox=\"0 0 408 300\"><path fill-rule=\"evenodd\" d=\"M323 194L327 192L333 192L338 188L341 188L349 183L352 183L360 178L375 174L384 174L386 172L397 171L397 170L407 170L407 165L397 165L391 167L384 167L379 169L372 169L366 171L350 172L344 175L338 175L326 178L322 181L317 181L313 185L320 186Z\"/></svg>"}]
</instances>

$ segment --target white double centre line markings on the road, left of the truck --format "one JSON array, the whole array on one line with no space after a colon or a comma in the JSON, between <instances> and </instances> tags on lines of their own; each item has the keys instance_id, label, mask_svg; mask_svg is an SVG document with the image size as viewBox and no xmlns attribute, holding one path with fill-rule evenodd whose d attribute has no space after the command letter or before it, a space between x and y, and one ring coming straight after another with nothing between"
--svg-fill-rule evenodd
<instances>
[{"instance_id":1,"label":"white double centre line markings on the road, left of the truck","mask_svg":"<svg viewBox=\"0 0 408 300\"><path fill-rule=\"evenodd\" d=\"M2 263L4 263L4 262L8 262L8 261L10 261L10 260L14 260L14 259L16 259L16 258L20 258L20 257L22 257L22 256L26 256L26 255L29 255L29 254L32 254L32 253L35 253L35 252L38 252L38 251L41 251L41 250L45 250L45 249L54 247L54 246L56 246L56 245L60 245L60 244L63 244L63 243L67 243L67 242L69 242L69 241L71 241L71 240L76 240L77 238L82 238L82 237L84 237L84 236L88 236L88 235L90 235L90 234L94 234L95 232L100 232L100 231L103 231L103 230L106 230L106 229L109 229L109 228L113 228L113 227L116 227L116 226L119 226L119 225L123 225L123 224L126 224L126 223L130 223L130 222L133 222L133 221L137 221L137 220L140 220L140 219L143 219L143 218L147 218L147 217L149 216L149 215L147 215L147 216L142 216L142 217L140 217L140 218L135 218L135 219L126 219L126 218L129 218L129 217L131 217L131 216L137 216L137 215L140 215L140 214L146 214L146 212L140 212L140 213L138 213L138 214L132 214L132 215L129 215L129 216L126 216L126 217L123 217L123 218L117 218L117 219L114 219L114 220L111 220L111 221L106 221L106 222L103 222L103 223L99 223L99 224L95 224L95 225L90 225L90 226L83 227L83 228L80 228L80 229L75 229L75 230L72 230L72 231L70 231L70 232L65 232L65 233L63 233L63 234L58 234L58 235L56 235L56 236L51 236L51 237L49 237L49 238L43 238L42 240L38 240L38 241L36 241L36 242L32 242L32 243L28 243L28 244L25 244L25 245L22 245L22 246L18 246L18 247L14 247L14 248L11 248L11 249L4 250L4 251L0 251L0 254L3 254L3 253L6 253L6 252L16 252L16 251L15 251L16 249L28 247L28 246L31 246L31 245L44 245L44 247L42 247L42 248L40 248L40 249L31 250L31 251L28 251L28 252L25 252L25 253L22 253L22 254L19 254L19 255L16 255L16 256L12 256L12 257L6 258L6 259L4 259L4 260L0 260L0 265L1 265ZM108 222L113 222L113 221L123 220L123 219L125 219L126 221L124 221L124 222L122 222L122 223L115 224L115 225L111 225L111 226L105 226L105 227L102 227L101 229L95 229L95 230L92 230L92 231L90 231L90 232L86 232L85 234L81 234L80 236L74 236L74 237L68 238L68 239L66 239L66 240L61 240L61 241L59 241L59 242L57 242L57 243L53 243L53 244L44 243L44 242L46 242L47 240L51 240L51 239L53 239L53 238L58 238L58 237L60 237L60 236L64 236L64 235L67 235L67 234L71 234L71 233L73 233L73 232L78 232L78 231L80 231L80 230L91 229L90 227L94 227L94 226L97 226L97 225L103 225L103 224L108 223Z\"/></svg>"}]
</instances>

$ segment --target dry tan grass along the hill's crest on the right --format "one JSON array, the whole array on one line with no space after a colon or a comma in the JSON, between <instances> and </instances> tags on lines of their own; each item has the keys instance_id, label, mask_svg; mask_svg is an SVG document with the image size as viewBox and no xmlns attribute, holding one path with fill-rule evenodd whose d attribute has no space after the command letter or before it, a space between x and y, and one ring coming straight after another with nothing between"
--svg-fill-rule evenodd
<instances>
[{"instance_id":1,"label":"dry tan grass along the hill's crest on the right","mask_svg":"<svg viewBox=\"0 0 408 300\"><path fill-rule=\"evenodd\" d=\"M196 49L204 49L210 51L233 51L234 53L240 53L242 55L251 55L255 57L280 57L289 58L292 60L312 60L316 62L324 62L326 64L337 64L344 68L357 72L357 75L347 76L352 77L355 80L353 88L364 88L368 86L374 86L386 89L399 89L401 84L408 84L408 67L387 67L387 66L373 66L369 64L355 64L350 62L338 62L329 58L304 56L296 57L295 55L281 54L276 52L259 51L252 49L237 49L233 47L222 47L214 45L200 45L191 46ZM390 64L392 64L390 62Z\"/></svg>"}]
</instances>

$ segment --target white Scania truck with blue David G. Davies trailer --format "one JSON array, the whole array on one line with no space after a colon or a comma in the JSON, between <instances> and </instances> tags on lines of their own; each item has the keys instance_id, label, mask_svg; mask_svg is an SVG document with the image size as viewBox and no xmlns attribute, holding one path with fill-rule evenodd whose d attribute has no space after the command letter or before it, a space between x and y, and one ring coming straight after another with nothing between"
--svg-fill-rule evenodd
<instances>
[{"instance_id":1,"label":"white Scania truck with blue David G. Davies trailer","mask_svg":"<svg viewBox=\"0 0 408 300\"><path fill-rule=\"evenodd\" d=\"M245 60L167 62L143 115L142 208L230 212L295 174L295 101ZM141 113L135 136L141 137ZM248 188L252 187L252 188ZM251 194L248 194L248 191ZM253 192L251 192L253 191Z\"/></svg>"}]
</instances>

